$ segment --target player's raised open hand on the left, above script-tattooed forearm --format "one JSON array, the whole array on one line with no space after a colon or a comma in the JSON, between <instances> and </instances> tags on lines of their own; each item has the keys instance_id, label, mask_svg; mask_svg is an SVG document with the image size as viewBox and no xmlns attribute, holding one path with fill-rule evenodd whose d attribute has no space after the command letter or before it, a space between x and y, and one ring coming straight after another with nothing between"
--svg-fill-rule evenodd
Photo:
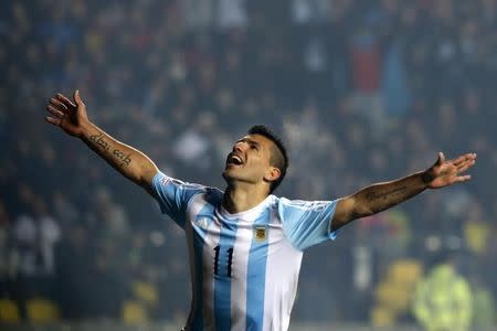
<instances>
[{"instance_id":1,"label":"player's raised open hand on the left, above script-tattooed forearm","mask_svg":"<svg viewBox=\"0 0 497 331\"><path fill-rule=\"evenodd\" d=\"M71 136L81 137L83 125L88 122L88 116L78 90L74 92L73 99L74 102L62 94L56 94L46 105L50 115L45 117L45 120Z\"/></svg>"}]
</instances>

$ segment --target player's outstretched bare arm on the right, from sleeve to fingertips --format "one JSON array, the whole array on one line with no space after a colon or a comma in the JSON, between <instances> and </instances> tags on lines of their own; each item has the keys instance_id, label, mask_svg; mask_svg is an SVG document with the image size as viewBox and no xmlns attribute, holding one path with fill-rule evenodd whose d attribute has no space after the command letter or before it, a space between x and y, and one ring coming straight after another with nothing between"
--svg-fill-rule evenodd
<instances>
[{"instance_id":1,"label":"player's outstretched bare arm on the right, from sleeve to fingertips","mask_svg":"<svg viewBox=\"0 0 497 331\"><path fill-rule=\"evenodd\" d=\"M442 152L435 164L425 171L416 172L399 180L367 186L352 195L338 201L332 220L337 229L356 218L370 216L394 206L426 189L440 189L470 179L462 174L476 162L475 153L467 153L454 160L445 160Z\"/></svg>"}]
</instances>

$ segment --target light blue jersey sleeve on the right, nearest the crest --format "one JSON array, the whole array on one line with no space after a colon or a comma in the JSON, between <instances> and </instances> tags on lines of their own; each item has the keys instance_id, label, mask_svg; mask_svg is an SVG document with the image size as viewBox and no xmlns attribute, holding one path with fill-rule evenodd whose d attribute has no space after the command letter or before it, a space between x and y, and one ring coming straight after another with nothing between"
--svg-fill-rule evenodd
<instances>
[{"instance_id":1,"label":"light blue jersey sleeve on the right, nearest the crest","mask_svg":"<svg viewBox=\"0 0 497 331\"><path fill-rule=\"evenodd\" d=\"M337 202L279 199L278 214L286 237L300 250L335 239L338 232L331 231L331 221Z\"/></svg>"}]
</instances>

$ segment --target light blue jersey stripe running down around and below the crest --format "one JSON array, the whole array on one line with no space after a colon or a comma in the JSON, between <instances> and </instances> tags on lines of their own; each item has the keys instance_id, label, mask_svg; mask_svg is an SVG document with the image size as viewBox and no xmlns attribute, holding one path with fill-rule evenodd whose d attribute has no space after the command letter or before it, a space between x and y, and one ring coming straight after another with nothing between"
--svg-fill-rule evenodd
<instances>
[{"instance_id":1,"label":"light blue jersey stripe running down around and below the crest","mask_svg":"<svg viewBox=\"0 0 497 331\"><path fill-rule=\"evenodd\" d=\"M265 241L257 242L252 237L251 250L248 253L248 266L246 270L246 330L262 330L264 323L264 293L266 284L266 261L269 241L269 220L271 210L266 209L255 220L256 226L265 226Z\"/></svg>"}]
</instances>

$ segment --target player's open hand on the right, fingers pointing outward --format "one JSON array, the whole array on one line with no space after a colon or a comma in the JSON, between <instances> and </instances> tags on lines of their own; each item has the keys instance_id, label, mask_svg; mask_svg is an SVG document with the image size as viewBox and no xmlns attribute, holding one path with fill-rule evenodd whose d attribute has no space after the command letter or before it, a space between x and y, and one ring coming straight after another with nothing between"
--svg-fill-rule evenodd
<instances>
[{"instance_id":1,"label":"player's open hand on the right, fingers pointing outward","mask_svg":"<svg viewBox=\"0 0 497 331\"><path fill-rule=\"evenodd\" d=\"M444 153L438 153L435 164L423 174L423 180L430 189L441 189L454 183L469 180L469 174L463 174L466 170L475 166L476 153L466 153L453 160L445 160Z\"/></svg>"}]
</instances>

